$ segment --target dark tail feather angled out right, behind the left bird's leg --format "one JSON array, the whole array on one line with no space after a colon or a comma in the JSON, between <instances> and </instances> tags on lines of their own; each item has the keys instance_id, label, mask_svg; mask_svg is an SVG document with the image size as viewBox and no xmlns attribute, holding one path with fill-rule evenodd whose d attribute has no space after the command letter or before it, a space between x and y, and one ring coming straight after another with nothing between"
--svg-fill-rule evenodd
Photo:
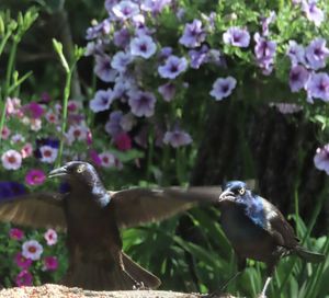
<instances>
[{"instance_id":1,"label":"dark tail feather angled out right, behind the left bird's leg","mask_svg":"<svg viewBox=\"0 0 329 298\"><path fill-rule=\"evenodd\" d=\"M143 283L145 287L156 289L161 285L161 280L147 270L135 263L128 255L122 253L122 260L125 271L138 283Z\"/></svg>"}]
</instances>

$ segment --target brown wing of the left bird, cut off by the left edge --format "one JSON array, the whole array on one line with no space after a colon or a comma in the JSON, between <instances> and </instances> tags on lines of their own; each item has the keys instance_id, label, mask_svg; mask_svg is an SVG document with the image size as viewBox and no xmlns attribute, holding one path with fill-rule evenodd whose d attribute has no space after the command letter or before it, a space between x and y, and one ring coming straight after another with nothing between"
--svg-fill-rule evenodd
<instances>
[{"instance_id":1,"label":"brown wing of the left bird, cut off by the left edge","mask_svg":"<svg viewBox=\"0 0 329 298\"><path fill-rule=\"evenodd\" d=\"M63 195L44 192L1 200L0 221L32 228L66 229Z\"/></svg>"}]
</instances>

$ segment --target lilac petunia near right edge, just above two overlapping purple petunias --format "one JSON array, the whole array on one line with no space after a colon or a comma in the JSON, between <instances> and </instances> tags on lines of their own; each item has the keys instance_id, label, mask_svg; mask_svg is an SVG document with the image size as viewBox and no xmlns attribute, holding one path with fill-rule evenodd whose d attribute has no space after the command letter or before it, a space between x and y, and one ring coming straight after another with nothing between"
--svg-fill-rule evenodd
<instances>
[{"instance_id":1,"label":"lilac petunia near right edge, just above two overlapping purple petunias","mask_svg":"<svg viewBox=\"0 0 329 298\"><path fill-rule=\"evenodd\" d=\"M329 49L326 47L326 39L318 37L305 49L307 62L314 70L326 67L326 59L329 57Z\"/></svg>"}]
</instances>

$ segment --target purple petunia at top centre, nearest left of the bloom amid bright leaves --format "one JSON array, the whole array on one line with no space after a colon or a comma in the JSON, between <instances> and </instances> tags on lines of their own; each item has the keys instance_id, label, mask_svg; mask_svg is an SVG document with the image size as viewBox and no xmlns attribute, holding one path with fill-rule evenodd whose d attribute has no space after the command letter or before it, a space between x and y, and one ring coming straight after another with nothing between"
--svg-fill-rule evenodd
<instances>
[{"instance_id":1,"label":"purple petunia at top centre, nearest left of the bloom amid bright leaves","mask_svg":"<svg viewBox=\"0 0 329 298\"><path fill-rule=\"evenodd\" d=\"M202 28L202 22L200 20L194 20L192 23L185 25L183 36L179 42L185 47L197 47L205 41L205 37L206 34Z\"/></svg>"}]
</instances>

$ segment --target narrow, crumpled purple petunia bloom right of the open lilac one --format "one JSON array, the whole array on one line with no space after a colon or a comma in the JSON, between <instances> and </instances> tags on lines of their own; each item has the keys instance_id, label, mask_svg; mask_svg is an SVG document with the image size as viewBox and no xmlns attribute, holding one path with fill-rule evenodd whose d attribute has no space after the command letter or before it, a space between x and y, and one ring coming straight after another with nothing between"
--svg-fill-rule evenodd
<instances>
[{"instance_id":1,"label":"narrow, crumpled purple petunia bloom right of the open lilac one","mask_svg":"<svg viewBox=\"0 0 329 298\"><path fill-rule=\"evenodd\" d=\"M256 41L254 55L257 62L260 68L263 69L264 74L270 74L273 68L276 43L273 41L268 41L258 32L254 34L253 38Z\"/></svg>"}]
</instances>

